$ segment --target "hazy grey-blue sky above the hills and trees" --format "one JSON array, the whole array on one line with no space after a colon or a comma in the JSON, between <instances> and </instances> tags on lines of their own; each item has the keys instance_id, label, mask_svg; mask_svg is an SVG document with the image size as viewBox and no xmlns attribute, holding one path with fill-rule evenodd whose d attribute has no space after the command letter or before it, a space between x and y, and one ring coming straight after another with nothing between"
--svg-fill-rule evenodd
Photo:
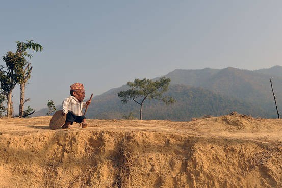
<instances>
[{"instance_id":1,"label":"hazy grey-blue sky above the hills and trees","mask_svg":"<svg viewBox=\"0 0 282 188\"><path fill-rule=\"evenodd\" d=\"M0 55L34 40L30 105L85 85L86 98L175 69L282 65L282 1L2 1ZM0 64L5 62L0 60ZM19 88L13 91L18 113Z\"/></svg>"}]
</instances>

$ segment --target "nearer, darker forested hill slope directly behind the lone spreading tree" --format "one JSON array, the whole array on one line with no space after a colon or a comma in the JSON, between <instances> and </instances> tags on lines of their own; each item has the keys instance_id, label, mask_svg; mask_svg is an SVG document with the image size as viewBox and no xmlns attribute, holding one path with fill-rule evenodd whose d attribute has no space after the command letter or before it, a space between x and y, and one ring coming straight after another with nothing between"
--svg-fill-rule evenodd
<instances>
[{"instance_id":1,"label":"nearer, darker forested hill slope directly behind the lone spreading tree","mask_svg":"<svg viewBox=\"0 0 282 188\"><path fill-rule=\"evenodd\" d=\"M116 88L92 99L86 117L90 119L123 119L132 113L139 118L140 105L134 101L122 104L117 93L127 87ZM163 102L146 100L143 105L143 119L190 121L204 115L219 116L237 111L253 117L267 117L269 114L260 106L250 102L215 94L207 89L185 85L171 85L166 95L176 102L165 105ZM46 113L45 113L46 114Z\"/></svg>"}]
</instances>

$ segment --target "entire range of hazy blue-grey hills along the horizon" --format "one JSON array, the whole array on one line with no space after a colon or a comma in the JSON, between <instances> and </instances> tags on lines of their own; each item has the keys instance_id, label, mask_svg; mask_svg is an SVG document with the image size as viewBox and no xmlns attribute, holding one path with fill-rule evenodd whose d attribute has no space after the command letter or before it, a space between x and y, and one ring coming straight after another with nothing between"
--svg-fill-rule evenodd
<instances>
[{"instance_id":1,"label":"entire range of hazy blue-grey hills along the horizon","mask_svg":"<svg viewBox=\"0 0 282 188\"><path fill-rule=\"evenodd\" d=\"M170 89L165 94L174 97L177 102L166 106L158 101L147 100L143 119L189 121L193 117L220 116L232 111L254 117L276 118L269 78L272 78L279 108L279 104L282 105L282 87L278 85L282 83L281 75L281 66L254 71L232 67L221 70L176 69L165 75L171 78ZM126 89L124 85L93 97L87 118L121 119L130 113L138 118L139 105L133 101L124 105L117 97L119 91ZM44 116L46 112L47 109L42 109L34 116Z\"/></svg>"}]
</instances>

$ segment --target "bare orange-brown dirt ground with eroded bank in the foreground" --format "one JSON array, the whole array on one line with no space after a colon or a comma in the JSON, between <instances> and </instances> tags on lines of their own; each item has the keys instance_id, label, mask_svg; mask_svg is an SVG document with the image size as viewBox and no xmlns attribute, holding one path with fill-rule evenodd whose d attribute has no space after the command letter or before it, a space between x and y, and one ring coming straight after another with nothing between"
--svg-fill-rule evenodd
<instances>
[{"instance_id":1,"label":"bare orange-brown dirt ground with eroded bank in the foreground","mask_svg":"<svg viewBox=\"0 0 282 188\"><path fill-rule=\"evenodd\" d=\"M0 187L282 187L282 120L0 119Z\"/></svg>"}]
</instances>

